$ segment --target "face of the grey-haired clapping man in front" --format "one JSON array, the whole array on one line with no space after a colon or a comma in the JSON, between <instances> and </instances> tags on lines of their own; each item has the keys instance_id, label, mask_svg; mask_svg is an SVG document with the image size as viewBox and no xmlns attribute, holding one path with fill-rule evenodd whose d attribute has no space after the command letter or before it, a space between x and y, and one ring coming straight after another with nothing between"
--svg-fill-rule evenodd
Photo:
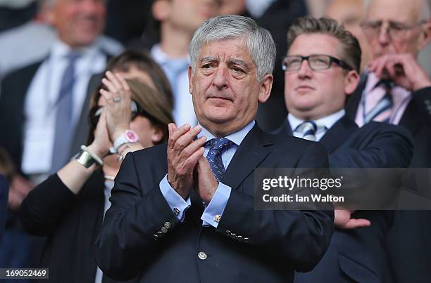
<instances>
[{"instance_id":1,"label":"face of the grey-haired clapping man in front","mask_svg":"<svg viewBox=\"0 0 431 283\"><path fill-rule=\"evenodd\" d=\"M196 67L189 67L189 91L199 124L226 136L254 119L258 102L270 95L273 76L256 79L256 66L243 39L202 46Z\"/></svg>"}]
</instances>

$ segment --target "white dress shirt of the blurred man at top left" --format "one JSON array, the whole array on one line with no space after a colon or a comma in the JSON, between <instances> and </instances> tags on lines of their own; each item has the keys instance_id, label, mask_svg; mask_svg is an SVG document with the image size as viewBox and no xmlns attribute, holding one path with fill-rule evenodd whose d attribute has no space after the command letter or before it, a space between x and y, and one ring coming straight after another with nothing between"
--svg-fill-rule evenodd
<instances>
[{"instance_id":1,"label":"white dress shirt of the blurred man at top left","mask_svg":"<svg viewBox=\"0 0 431 283\"><path fill-rule=\"evenodd\" d=\"M99 42L99 41L98 41ZM51 169L56 124L56 100L61 79L68 65L66 55L70 47L56 41L49 58L39 67L25 97L25 125L23 135L23 162L21 169L26 174L44 174ZM79 121L89 79L104 71L106 55L96 43L82 48L82 55L75 65L73 88L73 124Z\"/></svg>"}]
</instances>

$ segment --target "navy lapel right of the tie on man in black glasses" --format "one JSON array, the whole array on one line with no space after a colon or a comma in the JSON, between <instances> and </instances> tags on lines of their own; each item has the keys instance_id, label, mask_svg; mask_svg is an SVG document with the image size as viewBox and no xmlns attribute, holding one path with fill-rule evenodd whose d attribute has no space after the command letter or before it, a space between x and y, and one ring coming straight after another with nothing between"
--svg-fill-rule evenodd
<instances>
[{"instance_id":1,"label":"navy lapel right of the tie on man in black glasses","mask_svg":"<svg viewBox=\"0 0 431 283\"><path fill-rule=\"evenodd\" d=\"M323 138L320 139L320 143L325 145L327 153L330 154L337 150L337 147L344 143L356 129L358 129L358 126L355 122L344 116L331 129L327 130Z\"/></svg>"}]
</instances>

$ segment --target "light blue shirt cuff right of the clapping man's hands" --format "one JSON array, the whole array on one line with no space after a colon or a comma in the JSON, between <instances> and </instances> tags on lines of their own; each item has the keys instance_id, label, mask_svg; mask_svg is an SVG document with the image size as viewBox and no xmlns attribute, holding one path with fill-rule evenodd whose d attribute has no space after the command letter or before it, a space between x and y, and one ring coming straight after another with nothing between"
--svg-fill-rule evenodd
<instances>
[{"instance_id":1,"label":"light blue shirt cuff right of the clapping man's hands","mask_svg":"<svg viewBox=\"0 0 431 283\"><path fill-rule=\"evenodd\" d=\"M223 211L225 211L231 190L231 187L228 185L225 185L221 182L218 183L218 187L217 190L215 190L213 199L211 199L211 202L208 204L208 206L206 206L206 209L201 216L202 225L211 225L217 228L218 222L223 215Z\"/></svg>"}]
</instances>

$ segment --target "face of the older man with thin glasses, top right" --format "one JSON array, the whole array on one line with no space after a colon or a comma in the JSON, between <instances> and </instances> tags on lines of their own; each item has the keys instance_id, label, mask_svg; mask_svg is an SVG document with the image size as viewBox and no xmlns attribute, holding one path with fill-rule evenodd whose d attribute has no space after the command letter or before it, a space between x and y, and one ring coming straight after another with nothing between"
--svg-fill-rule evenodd
<instances>
[{"instance_id":1,"label":"face of the older man with thin glasses, top right","mask_svg":"<svg viewBox=\"0 0 431 283\"><path fill-rule=\"evenodd\" d=\"M372 1L367 11L366 22L382 22L380 31L367 32L373 58L385 54L412 53L423 48L423 31L427 25L417 25L422 0L377 0ZM392 22L392 24L391 24ZM398 32L388 30L389 25L411 27Z\"/></svg>"}]
</instances>

